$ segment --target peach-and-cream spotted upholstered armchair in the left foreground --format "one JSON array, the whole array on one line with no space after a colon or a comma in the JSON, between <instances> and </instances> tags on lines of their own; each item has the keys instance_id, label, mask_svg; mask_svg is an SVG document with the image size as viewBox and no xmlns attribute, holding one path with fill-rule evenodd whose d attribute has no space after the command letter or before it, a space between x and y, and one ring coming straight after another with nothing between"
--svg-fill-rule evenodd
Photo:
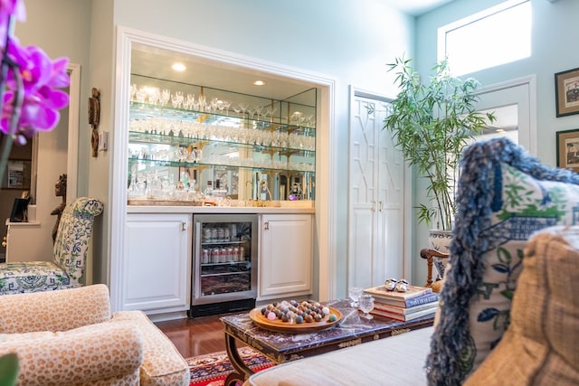
<instances>
[{"instance_id":1,"label":"peach-and-cream spotted upholstered armchair in the left foreground","mask_svg":"<svg viewBox=\"0 0 579 386\"><path fill-rule=\"evenodd\" d=\"M189 367L141 311L110 315L103 284L0 297L0 356L18 384L186 386Z\"/></svg>"}]
</instances>

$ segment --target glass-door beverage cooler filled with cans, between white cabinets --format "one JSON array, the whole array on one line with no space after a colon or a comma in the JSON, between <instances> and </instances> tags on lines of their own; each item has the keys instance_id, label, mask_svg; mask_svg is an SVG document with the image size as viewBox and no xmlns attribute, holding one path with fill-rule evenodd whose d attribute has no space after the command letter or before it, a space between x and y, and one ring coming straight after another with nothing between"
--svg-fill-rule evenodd
<instances>
[{"instance_id":1,"label":"glass-door beverage cooler filled with cans, between white cabinets","mask_svg":"<svg viewBox=\"0 0 579 386\"><path fill-rule=\"evenodd\" d=\"M257 214L194 216L189 317L255 306L257 245Z\"/></svg>"}]
</instances>

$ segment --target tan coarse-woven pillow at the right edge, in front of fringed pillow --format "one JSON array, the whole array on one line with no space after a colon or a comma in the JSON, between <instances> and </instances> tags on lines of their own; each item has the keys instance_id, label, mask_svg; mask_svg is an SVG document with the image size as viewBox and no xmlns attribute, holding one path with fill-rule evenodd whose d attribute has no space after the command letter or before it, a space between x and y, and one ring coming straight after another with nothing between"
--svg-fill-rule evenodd
<instances>
[{"instance_id":1,"label":"tan coarse-woven pillow at the right edge, in front of fringed pillow","mask_svg":"<svg viewBox=\"0 0 579 386\"><path fill-rule=\"evenodd\" d=\"M579 227L540 231L518 278L511 325L466 385L579 384Z\"/></svg>"}]
</instances>

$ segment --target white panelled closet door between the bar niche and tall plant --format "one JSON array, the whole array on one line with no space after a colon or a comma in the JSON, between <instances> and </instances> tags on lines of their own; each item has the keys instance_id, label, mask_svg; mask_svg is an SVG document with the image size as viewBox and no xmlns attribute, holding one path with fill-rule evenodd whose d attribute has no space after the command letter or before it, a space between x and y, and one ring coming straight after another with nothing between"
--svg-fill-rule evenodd
<instances>
[{"instance_id":1,"label":"white panelled closet door between the bar niche and tall plant","mask_svg":"<svg viewBox=\"0 0 579 386\"><path fill-rule=\"evenodd\" d=\"M369 114L367 107L375 107ZM388 103L353 93L350 103L348 287L403 277L404 163L383 130Z\"/></svg>"}]
</instances>

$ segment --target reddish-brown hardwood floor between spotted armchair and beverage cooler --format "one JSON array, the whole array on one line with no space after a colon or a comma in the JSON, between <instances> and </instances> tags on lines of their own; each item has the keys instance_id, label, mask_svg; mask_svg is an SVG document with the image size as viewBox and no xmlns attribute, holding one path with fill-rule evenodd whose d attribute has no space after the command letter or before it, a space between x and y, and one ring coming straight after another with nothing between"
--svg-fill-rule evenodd
<instances>
[{"instance_id":1,"label":"reddish-brown hardwood floor between spotted armchair and beverage cooler","mask_svg":"<svg viewBox=\"0 0 579 386\"><path fill-rule=\"evenodd\" d=\"M225 350L223 324L219 321L223 315L157 322L155 325L169 337L184 358L190 358Z\"/></svg>"}]
</instances>

